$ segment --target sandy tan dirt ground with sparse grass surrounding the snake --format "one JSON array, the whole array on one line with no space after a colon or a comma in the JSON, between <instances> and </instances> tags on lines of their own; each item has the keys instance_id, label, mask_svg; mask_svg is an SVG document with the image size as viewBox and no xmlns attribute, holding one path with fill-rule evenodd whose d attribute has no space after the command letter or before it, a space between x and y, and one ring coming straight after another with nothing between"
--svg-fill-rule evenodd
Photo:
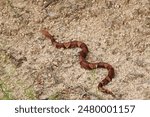
<instances>
[{"instance_id":1,"label":"sandy tan dirt ground with sparse grass surrounding the snake","mask_svg":"<svg viewBox=\"0 0 150 117\"><path fill-rule=\"evenodd\" d=\"M81 68L43 28L111 64L116 97L97 89L107 70ZM0 99L150 99L150 0L0 0Z\"/></svg>"}]
</instances>

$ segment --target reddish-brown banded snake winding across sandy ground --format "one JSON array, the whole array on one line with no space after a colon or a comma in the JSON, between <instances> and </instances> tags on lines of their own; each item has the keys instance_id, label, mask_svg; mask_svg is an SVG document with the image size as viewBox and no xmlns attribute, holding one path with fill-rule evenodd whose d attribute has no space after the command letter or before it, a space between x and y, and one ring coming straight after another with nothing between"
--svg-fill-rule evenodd
<instances>
[{"instance_id":1,"label":"reddish-brown banded snake winding across sandy ground","mask_svg":"<svg viewBox=\"0 0 150 117\"><path fill-rule=\"evenodd\" d=\"M55 40L54 36L49 34L48 31L41 30L41 32L45 37L47 37L51 40L52 44L56 48L64 48L64 49L76 48L76 47L81 48L82 50L79 52L79 61L80 61L80 65L82 68L88 69L88 70L92 70L92 69L96 69L96 68L107 69L108 75L98 84L98 89L103 93L107 93L107 94L110 94L113 97L115 97L115 95L111 91L104 88L104 86L107 85L115 75L114 68L110 64L105 63L105 62L90 63L90 62L86 61L85 58L86 58L89 50L88 50L88 47L86 46L86 44L81 41L70 41L70 42L60 43L60 42L57 42Z\"/></svg>"}]
</instances>

